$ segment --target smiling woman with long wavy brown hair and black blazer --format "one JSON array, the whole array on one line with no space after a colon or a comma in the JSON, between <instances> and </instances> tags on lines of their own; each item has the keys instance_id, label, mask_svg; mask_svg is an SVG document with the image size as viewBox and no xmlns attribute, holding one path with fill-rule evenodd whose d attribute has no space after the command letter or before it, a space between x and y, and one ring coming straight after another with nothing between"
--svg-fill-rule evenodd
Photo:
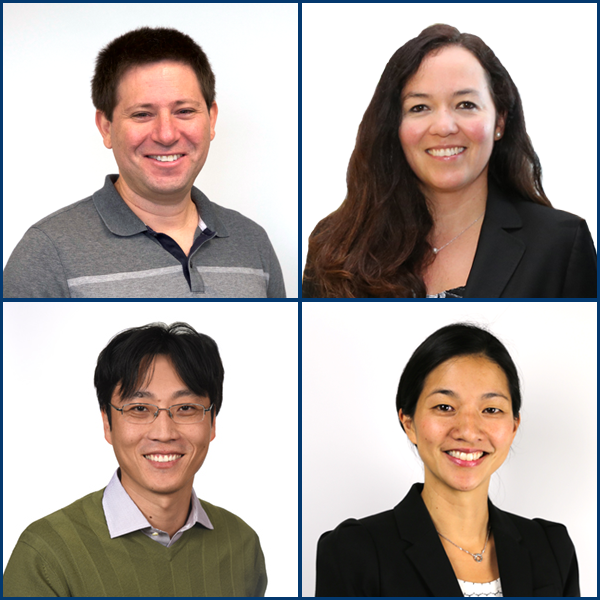
<instances>
[{"instance_id":1,"label":"smiling woman with long wavy brown hair and black blazer","mask_svg":"<svg viewBox=\"0 0 600 600\"><path fill-rule=\"evenodd\" d=\"M477 36L434 25L390 59L303 297L596 297L581 218L555 210L519 92Z\"/></svg>"}]
</instances>

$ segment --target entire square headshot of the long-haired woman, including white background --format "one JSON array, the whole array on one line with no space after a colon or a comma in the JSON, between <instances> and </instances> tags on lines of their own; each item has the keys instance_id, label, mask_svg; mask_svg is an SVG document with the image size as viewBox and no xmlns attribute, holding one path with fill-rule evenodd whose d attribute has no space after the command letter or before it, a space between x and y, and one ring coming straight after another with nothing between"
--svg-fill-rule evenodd
<instances>
[{"instance_id":1,"label":"entire square headshot of the long-haired woman, including white background","mask_svg":"<svg viewBox=\"0 0 600 600\"><path fill-rule=\"evenodd\" d=\"M549 102L595 106L596 6L337 9L302 7L303 297L596 298L595 113Z\"/></svg>"}]
</instances>

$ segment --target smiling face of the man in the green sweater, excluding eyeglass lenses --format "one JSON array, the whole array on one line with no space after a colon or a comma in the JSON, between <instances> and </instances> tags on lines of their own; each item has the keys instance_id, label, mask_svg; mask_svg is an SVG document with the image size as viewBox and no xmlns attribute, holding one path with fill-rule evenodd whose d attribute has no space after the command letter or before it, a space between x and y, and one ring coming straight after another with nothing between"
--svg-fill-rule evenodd
<instances>
[{"instance_id":1,"label":"smiling face of the man in the green sweater, excluding eyeglass lenses","mask_svg":"<svg viewBox=\"0 0 600 600\"><path fill-rule=\"evenodd\" d=\"M196 396L181 381L171 361L166 356L158 356L149 373L151 379L133 394L132 398L121 400L118 389L113 393L112 404L121 408L130 402L155 404L168 408L173 404L194 403L210 406L210 400ZM215 421L206 413L201 423L178 425L166 411L149 425L129 423L122 413L112 411L112 430L106 414L104 437L112 444L121 467L121 483L134 494L175 494L189 488L191 493L194 475L202 466L208 446L215 437ZM165 457L174 460L165 460Z\"/></svg>"}]
</instances>

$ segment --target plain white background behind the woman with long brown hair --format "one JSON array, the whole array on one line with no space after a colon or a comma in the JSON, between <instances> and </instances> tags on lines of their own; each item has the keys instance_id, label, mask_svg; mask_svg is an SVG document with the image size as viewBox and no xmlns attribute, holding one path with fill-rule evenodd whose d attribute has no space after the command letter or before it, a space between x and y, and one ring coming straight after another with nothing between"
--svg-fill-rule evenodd
<instances>
[{"instance_id":1,"label":"plain white background behind the woman with long brown hair","mask_svg":"<svg viewBox=\"0 0 600 600\"><path fill-rule=\"evenodd\" d=\"M596 4L303 4L302 264L346 197L356 133L392 54L434 23L479 36L519 89L555 208L596 241Z\"/></svg>"}]
</instances>

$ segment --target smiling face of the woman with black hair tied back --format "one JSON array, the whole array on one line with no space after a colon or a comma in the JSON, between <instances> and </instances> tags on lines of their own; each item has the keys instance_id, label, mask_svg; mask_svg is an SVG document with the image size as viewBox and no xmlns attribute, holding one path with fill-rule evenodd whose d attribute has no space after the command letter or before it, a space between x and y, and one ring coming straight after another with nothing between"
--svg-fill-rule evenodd
<instances>
[{"instance_id":1,"label":"smiling face of the woman with black hair tied back","mask_svg":"<svg viewBox=\"0 0 600 600\"><path fill-rule=\"evenodd\" d=\"M400 419L425 464L425 481L471 491L506 459L519 426L504 371L483 356L447 360L425 379L412 418Z\"/></svg>"}]
</instances>

